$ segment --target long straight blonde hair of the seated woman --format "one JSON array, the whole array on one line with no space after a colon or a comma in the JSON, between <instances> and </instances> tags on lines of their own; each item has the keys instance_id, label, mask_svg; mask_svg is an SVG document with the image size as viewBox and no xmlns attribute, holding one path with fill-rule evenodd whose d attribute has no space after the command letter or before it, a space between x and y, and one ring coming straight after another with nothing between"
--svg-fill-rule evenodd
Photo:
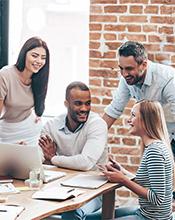
<instances>
[{"instance_id":1,"label":"long straight blonde hair of the seated woman","mask_svg":"<svg viewBox=\"0 0 175 220\"><path fill-rule=\"evenodd\" d=\"M162 106L157 101L142 100L138 102L140 119L146 134L152 139L162 140L173 159L171 144Z\"/></svg>"}]
</instances>

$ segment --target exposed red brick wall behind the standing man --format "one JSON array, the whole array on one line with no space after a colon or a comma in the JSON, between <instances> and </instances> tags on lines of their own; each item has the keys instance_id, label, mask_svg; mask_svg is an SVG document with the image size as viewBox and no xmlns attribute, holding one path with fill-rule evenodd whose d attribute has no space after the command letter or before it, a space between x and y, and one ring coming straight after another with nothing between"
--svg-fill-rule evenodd
<instances>
[{"instance_id":1,"label":"exposed red brick wall behind the standing man","mask_svg":"<svg viewBox=\"0 0 175 220\"><path fill-rule=\"evenodd\" d=\"M175 67L175 0L91 0L89 80L93 110L103 114L118 85L117 49L139 41L149 59ZM135 172L140 162L139 138L128 135L127 117L134 100L109 130L108 146L116 160ZM133 194L125 189L118 196Z\"/></svg>"}]
</instances>

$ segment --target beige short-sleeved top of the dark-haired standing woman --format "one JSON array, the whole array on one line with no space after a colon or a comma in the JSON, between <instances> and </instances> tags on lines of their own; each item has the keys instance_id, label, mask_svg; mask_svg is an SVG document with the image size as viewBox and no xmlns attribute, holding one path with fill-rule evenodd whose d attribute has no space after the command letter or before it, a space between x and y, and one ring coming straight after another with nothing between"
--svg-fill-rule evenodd
<instances>
[{"instance_id":1,"label":"beige short-sleeved top of the dark-haired standing woman","mask_svg":"<svg viewBox=\"0 0 175 220\"><path fill-rule=\"evenodd\" d=\"M19 122L27 118L34 106L31 85L24 85L15 66L5 66L0 70L0 100L4 101L1 119Z\"/></svg>"}]
</instances>

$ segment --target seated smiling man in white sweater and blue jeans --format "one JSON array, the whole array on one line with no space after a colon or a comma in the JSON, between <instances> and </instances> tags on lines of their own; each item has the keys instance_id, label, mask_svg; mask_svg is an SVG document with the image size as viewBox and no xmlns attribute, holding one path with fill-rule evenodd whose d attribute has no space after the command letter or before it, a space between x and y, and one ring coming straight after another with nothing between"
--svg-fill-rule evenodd
<instances>
[{"instance_id":1,"label":"seated smiling man in white sweater and blue jeans","mask_svg":"<svg viewBox=\"0 0 175 220\"><path fill-rule=\"evenodd\" d=\"M107 124L91 111L91 94L82 82L73 82L66 89L67 114L60 115L44 126L39 140L45 160L75 170L95 170L96 164L107 159ZM62 214L64 220L85 219L101 208L97 197L81 208Z\"/></svg>"}]
</instances>

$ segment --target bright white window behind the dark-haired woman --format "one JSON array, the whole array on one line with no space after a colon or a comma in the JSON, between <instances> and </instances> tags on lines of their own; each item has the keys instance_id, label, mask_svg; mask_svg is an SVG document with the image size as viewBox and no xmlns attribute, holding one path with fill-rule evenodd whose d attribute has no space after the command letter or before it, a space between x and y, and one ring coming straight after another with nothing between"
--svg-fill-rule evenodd
<instances>
[{"instance_id":1,"label":"bright white window behind the dark-haired woman","mask_svg":"<svg viewBox=\"0 0 175 220\"><path fill-rule=\"evenodd\" d=\"M9 64L29 37L47 42L50 79L44 115L64 112L66 86L74 80L88 84L89 0L10 0L9 24Z\"/></svg>"}]
</instances>

